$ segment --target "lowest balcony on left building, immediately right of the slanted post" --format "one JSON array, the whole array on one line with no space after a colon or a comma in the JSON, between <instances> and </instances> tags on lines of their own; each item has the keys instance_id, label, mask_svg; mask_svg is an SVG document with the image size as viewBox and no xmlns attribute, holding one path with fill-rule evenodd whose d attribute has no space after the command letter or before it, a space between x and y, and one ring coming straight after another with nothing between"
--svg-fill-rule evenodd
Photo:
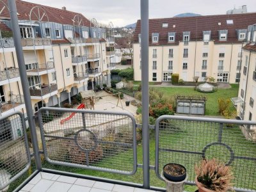
<instances>
[{"instance_id":1,"label":"lowest balcony on left building, immediately right of the slanted post","mask_svg":"<svg viewBox=\"0 0 256 192\"><path fill-rule=\"evenodd\" d=\"M45 99L47 97L51 97L52 95L56 95L58 93L57 84L52 83L42 84L41 87L36 86L35 88L29 89L31 99Z\"/></svg>"}]
</instances>

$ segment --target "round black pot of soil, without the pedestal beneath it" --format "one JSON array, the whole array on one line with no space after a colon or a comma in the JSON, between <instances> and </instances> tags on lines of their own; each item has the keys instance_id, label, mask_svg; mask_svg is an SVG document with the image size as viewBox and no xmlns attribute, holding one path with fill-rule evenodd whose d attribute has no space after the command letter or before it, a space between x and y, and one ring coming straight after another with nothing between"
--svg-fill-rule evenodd
<instances>
[{"instance_id":1,"label":"round black pot of soil, without the pedestal beneath it","mask_svg":"<svg viewBox=\"0 0 256 192\"><path fill-rule=\"evenodd\" d=\"M170 181L180 182L186 179L187 170L181 164L168 163L163 167L163 175Z\"/></svg>"}]
</instances>

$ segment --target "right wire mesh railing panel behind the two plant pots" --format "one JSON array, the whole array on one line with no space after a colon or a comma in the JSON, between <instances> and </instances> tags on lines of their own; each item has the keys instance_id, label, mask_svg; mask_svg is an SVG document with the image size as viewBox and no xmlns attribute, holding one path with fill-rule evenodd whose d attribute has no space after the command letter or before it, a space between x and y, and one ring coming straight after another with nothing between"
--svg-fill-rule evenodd
<instances>
[{"instance_id":1,"label":"right wire mesh railing panel behind the two plant pots","mask_svg":"<svg viewBox=\"0 0 256 192\"><path fill-rule=\"evenodd\" d=\"M202 158L232 167L234 187L256 190L256 122L162 116L156 123L156 173L163 166L186 167L188 181L195 180L195 164Z\"/></svg>"}]
</instances>

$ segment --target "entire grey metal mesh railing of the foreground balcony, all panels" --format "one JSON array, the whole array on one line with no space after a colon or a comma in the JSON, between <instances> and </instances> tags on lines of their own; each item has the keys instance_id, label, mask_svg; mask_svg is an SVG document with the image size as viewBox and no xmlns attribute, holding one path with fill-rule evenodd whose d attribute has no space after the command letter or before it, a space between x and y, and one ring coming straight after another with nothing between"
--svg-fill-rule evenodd
<instances>
[{"instance_id":1,"label":"entire grey metal mesh railing of the foreground balcony, all panels","mask_svg":"<svg viewBox=\"0 0 256 192\"><path fill-rule=\"evenodd\" d=\"M63 127L60 121L72 113L76 113L76 117L66 121ZM68 166L80 170L119 173L122 177L141 174L138 170L143 164L138 164L136 141L136 129L141 125L136 124L131 113L41 108L38 111L38 124L42 150L34 152L29 149L24 116L21 113L10 113L1 117L0 122L1 130L6 132L0 134L0 141L4 143L0 148L0 157L4 165L2 167L8 173L0 177L0 189L27 172L31 157L35 154L44 154L44 161L51 168L55 167L52 165L59 165L65 170ZM150 150L155 151L155 163L150 168L155 171L159 182L163 180L161 172L164 164L172 162L184 165L189 173L185 184L195 185L195 164L201 159L215 158L231 166L235 191L249 192L255 189L256 122L164 115L157 118L156 124L150 127L154 129L154 141L151 142L155 143L154 147L150 147ZM11 130L14 134L8 134ZM31 137L36 135L31 134ZM43 172L78 177L76 173L48 169L46 164L38 161L36 164L42 167ZM150 172L150 175L154 173ZM149 178L150 175L145 177ZM34 176L32 174L29 179ZM89 175L79 177L93 178ZM104 180L108 182L108 179ZM25 184L19 186L17 191Z\"/></svg>"}]
</instances>

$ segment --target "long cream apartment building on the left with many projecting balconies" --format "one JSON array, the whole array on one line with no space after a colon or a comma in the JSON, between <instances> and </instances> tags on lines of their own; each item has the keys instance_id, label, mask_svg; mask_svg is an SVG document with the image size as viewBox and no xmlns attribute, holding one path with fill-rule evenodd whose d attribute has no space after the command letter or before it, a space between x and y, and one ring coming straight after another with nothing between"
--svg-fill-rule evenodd
<instances>
[{"instance_id":1,"label":"long cream apartment building on the left with many projecting balconies","mask_svg":"<svg viewBox=\"0 0 256 192\"><path fill-rule=\"evenodd\" d=\"M65 8L16 3L35 113L42 106L71 102L72 96L97 84L110 86L115 39L106 33L109 29ZM0 115L26 113L7 1L1 1L0 9Z\"/></svg>"}]
</instances>

